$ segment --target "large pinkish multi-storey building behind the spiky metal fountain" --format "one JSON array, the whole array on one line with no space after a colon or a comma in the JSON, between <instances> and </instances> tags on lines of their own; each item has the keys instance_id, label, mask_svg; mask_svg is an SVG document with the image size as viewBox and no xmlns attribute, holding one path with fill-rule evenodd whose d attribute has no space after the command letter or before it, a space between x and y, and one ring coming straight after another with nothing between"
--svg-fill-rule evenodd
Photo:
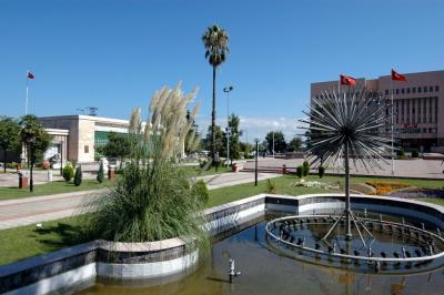
<instances>
[{"instance_id":1,"label":"large pinkish multi-storey building behind the spiky metal fountain","mask_svg":"<svg viewBox=\"0 0 444 295\"><path fill-rule=\"evenodd\" d=\"M404 74L404 73L403 73ZM394 136L405 150L444 153L444 71L404 74L406 82L393 81ZM339 81L311 84L311 98L336 90ZM356 85L379 91L391 99L391 75L356 79ZM385 110L391 113L391 105ZM391 131L387 122L385 131Z\"/></svg>"}]
</instances>

